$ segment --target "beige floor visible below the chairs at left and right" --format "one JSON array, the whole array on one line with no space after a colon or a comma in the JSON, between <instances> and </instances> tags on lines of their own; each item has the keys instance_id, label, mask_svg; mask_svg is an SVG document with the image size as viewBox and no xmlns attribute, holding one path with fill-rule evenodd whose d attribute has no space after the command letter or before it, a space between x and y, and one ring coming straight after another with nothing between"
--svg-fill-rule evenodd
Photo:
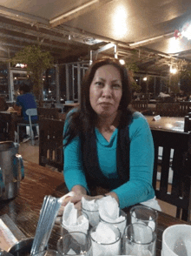
<instances>
[{"instance_id":1,"label":"beige floor visible below the chairs at left and right","mask_svg":"<svg viewBox=\"0 0 191 256\"><path fill-rule=\"evenodd\" d=\"M39 154L39 146L38 140L36 140L35 145L31 145L31 142L28 141L26 143L21 143L19 146L19 153L23 156L24 160L31 161L33 163L38 164L38 154ZM175 206L169 205L160 200L159 204L161 205L162 212L166 212L172 216L175 216Z\"/></svg>"}]
</instances>

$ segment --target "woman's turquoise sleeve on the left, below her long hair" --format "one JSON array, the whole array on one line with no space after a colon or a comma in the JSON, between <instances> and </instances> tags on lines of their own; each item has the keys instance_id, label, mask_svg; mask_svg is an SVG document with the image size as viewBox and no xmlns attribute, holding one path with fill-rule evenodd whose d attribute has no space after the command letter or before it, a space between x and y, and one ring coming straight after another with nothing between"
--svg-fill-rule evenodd
<instances>
[{"instance_id":1,"label":"woman's turquoise sleeve on the left, below her long hair","mask_svg":"<svg viewBox=\"0 0 191 256\"><path fill-rule=\"evenodd\" d=\"M69 116L66 118L63 133L69 125ZM63 145L66 141L63 140ZM69 145L63 146L63 177L69 191L74 185L82 185L88 191L88 185L82 168L82 152L80 138L71 140Z\"/></svg>"}]
</instances>

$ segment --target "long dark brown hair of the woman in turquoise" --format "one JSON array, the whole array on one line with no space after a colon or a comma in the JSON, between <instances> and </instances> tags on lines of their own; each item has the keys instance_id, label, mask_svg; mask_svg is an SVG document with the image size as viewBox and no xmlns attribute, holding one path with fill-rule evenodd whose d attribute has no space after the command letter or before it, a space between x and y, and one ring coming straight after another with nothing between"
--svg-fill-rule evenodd
<instances>
[{"instance_id":1,"label":"long dark brown hair of the woman in turquoise","mask_svg":"<svg viewBox=\"0 0 191 256\"><path fill-rule=\"evenodd\" d=\"M120 71L122 79L122 99L119 104L119 110L122 111L121 123L124 120L127 121L128 116L131 116L131 111L128 110L128 104L131 102L131 84L130 78L128 76L128 71L126 67L120 64L119 60L116 58L102 58L95 61L89 66L89 70L86 72L85 76L82 78L82 87L81 87L81 98L80 98L80 107L78 111L74 111L69 118L69 127L64 134L64 138L67 138L67 144L75 138L77 135L83 134L86 132L93 131L96 124L96 113L92 109L90 100L89 100L89 87L95 76L95 71L104 65L113 65ZM126 122L128 123L128 121ZM122 124L121 124L122 125Z\"/></svg>"}]
</instances>

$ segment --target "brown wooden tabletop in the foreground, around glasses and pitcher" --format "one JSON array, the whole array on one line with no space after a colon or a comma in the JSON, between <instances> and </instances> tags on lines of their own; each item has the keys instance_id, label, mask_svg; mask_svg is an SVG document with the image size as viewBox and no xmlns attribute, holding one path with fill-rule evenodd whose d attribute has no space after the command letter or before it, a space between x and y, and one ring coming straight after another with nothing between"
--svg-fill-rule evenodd
<instances>
[{"instance_id":1,"label":"brown wooden tabletop in the foreground, around glasses and pitcher","mask_svg":"<svg viewBox=\"0 0 191 256\"><path fill-rule=\"evenodd\" d=\"M61 197L68 190L63 182L63 174L49 168L24 161L25 178L21 182L20 193L10 201L0 201L0 215L7 213L16 226L27 236L33 237L39 219L39 213L45 195ZM129 208L124 209L129 212ZM166 213L159 212L157 227L157 252L161 256L161 235L164 229L185 222L175 219ZM49 247L56 248L56 241L61 235L60 226L55 225Z\"/></svg>"}]
</instances>

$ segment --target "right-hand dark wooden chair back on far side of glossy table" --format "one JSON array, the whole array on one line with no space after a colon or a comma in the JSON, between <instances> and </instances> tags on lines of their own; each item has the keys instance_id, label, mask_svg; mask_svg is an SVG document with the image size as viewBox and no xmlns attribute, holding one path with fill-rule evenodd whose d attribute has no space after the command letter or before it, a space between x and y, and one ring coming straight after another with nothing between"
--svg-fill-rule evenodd
<instances>
[{"instance_id":1,"label":"right-hand dark wooden chair back on far side of glossy table","mask_svg":"<svg viewBox=\"0 0 191 256\"><path fill-rule=\"evenodd\" d=\"M179 117L180 103L157 102L155 111L161 117Z\"/></svg>"}]
</instances>

